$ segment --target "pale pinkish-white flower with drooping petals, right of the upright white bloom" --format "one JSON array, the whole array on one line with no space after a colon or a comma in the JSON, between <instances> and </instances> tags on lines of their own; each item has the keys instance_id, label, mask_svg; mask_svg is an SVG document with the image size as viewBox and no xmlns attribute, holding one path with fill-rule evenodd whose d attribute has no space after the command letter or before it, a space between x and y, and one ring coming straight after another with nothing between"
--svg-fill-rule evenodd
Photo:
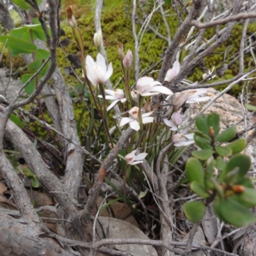
<instances>
[{"instance_id":1,"label":"pale pinkish-white flower with drooping petals, right of the upright white bloom","mask_svg":"<svg viewBox=\"0 0 256 256\"><path fill-rule=\"evenodd\" d=\"M140 92L141 96L150 96L157 95L159 93L163 93L166 95L172 95L173 92L162 86L160 82L154 81L152 77L143 76L138 79L136 83L136 88Z\"/></svg>"}]
</instances>

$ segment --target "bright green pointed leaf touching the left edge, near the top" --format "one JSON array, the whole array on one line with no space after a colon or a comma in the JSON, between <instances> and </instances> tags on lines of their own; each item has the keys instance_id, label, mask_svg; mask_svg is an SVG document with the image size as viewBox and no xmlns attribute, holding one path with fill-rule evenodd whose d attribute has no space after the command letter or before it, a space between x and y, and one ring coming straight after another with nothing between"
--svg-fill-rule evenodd
<instances>
[{"instance_id":1,"label":"bright green pointed leaf touching the left edge, near the top","mask_svg":"<svg viewBox=\"0 0 256 256\"><path fill-rule=\"evenodd\" d=\"M22 40L13 36L0 36L0 42L6 43L7 47L10 49L10 52L13 56L24 53L29 54L36 50L36 45L31 44L26 40Z\"/></svg>"}]
</instances>

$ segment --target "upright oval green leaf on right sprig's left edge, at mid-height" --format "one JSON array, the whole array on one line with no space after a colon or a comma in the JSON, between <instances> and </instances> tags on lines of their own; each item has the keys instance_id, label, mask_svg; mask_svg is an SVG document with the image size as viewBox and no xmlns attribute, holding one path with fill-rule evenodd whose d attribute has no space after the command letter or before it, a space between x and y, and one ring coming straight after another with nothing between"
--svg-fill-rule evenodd
<instances>
[{"instance_id":1,"label":"upright oval green leaf on right sprig's left edge, at mid-height","mask_svg":"<svg viewBox=\"0 0 256 256\"><path fill-rule=\"evenodd\" d=\"M190 157L188 159L185 172L190 182L195 180L204 186L204 168L196 158Z\"/></svg>"}]
</instances>

